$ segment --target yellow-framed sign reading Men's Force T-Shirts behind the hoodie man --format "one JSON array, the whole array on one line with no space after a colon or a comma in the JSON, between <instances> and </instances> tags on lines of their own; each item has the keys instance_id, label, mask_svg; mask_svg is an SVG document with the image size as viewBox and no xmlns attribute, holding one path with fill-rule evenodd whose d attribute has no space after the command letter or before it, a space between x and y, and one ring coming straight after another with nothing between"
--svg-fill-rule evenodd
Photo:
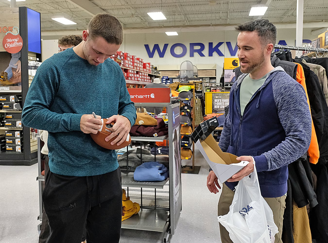
<instances>
[{"instance_id":1,"label":"yellow-framed sign reading Men's Force T-Shirts behind the hoodie man","mask_svg":"<svg viewBox=\"0 0 328 243\"><path fill-rule=\"evenodd\" d=\"M224 114L224 107L229 105L230 92L206 92L205 114Z\"/></svg>"}]
</instances>

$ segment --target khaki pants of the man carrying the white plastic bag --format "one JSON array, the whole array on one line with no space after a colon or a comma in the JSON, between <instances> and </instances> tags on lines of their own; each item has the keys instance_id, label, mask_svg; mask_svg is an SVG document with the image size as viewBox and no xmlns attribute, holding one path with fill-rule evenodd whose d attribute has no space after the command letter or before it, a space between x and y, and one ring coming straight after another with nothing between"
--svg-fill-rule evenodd
<instances>
[{"instance_id":1,"label":"khaki pants of the man carrying the white plastic bag","mask_svg":"<svg viewBox=\"0 0 328 243\"><path fill-rule=\"evenodd\" d=\"M217 205L217 216L225 215L229 212L229 207L234 198L235 192L228 188L224 183L222 187L222 193ZM275 235L275 243L282 243L281 232L282 232L282 220L284 211L286 208L285 205L286 196L281 197L264 197L264 200L269 204L272 212L273 219L275 224L278 227L278 233ZM222 243L232 243L232 240L229 237L229 232L219 223L220 226L220 236Z\"/></svg>"}]
</instances>

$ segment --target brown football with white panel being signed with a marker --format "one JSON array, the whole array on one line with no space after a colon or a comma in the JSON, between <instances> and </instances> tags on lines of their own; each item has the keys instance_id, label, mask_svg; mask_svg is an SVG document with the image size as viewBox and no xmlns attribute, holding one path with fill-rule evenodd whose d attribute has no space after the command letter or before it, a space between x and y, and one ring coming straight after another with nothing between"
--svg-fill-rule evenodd
<instances>
[{"instance_id":1,"label":"brown football with white panel being signed with a marker","mask_svg":"<svg viewBox=\"0 0 328 243\"><path fill-rule=\"evenodd\" d=\"M117 135L113 137L110 141L106 142L105 138L108 137L111 134L111 128L115 124L115 122L111 122L110 124L106 124L108 120L106 118L101 119L102 125L101 128L98 130L96 134L90 133L93 141L98 144L99 146L107 149L120 149L123 148L131 143L131 137L130 134L128 134L126 140L120 144L114 144L112 145L111 142L117 138Z\"/></svg>"}]
</instances>

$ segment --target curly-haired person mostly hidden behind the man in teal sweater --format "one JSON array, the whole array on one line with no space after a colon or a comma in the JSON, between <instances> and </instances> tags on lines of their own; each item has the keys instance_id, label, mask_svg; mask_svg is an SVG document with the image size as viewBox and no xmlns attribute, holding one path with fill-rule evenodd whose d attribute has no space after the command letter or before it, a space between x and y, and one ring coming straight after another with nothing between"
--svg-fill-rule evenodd
<instances>
[{"instance_id":1,"label":"curly-haired person mostly hidden behind the man in teal sweater","mask_svg":"<svg viewBox=\"0 0 328 243\"><path fill-rule=\"evenodd\" d=\"M80 35L74 35L74 34L70 34L70 35L65 35L63 37L61 37L58 40L58 43L60 42L61 45L63 45L63 50L66 50L67 48L71 48L74 46L77 46L78 44L80 44L82 41L82 36ZM58 46L59 48L59 46ZM64 49L65 48L65 49ZM40 134L40 139L41 141L44 142L44 146L41 149L41 154L42 157L44 157L44 175L46 176L49 170L49 157L48 157L48 146L47 146L47 142L48 142L48 131L46 130L39 130L39 134ZM46 177L45 177L46 180ZM48 221L48 216L44 210L44 208L42 209L42 225L41 225L41 232L39 235L39 243L45 243L49 237L49 233L50 233L50 227L49 227L49 221ZM86 232L83 232L83 236L82 236L82 242L86 239Z\"/></svg>"}]
</instances>

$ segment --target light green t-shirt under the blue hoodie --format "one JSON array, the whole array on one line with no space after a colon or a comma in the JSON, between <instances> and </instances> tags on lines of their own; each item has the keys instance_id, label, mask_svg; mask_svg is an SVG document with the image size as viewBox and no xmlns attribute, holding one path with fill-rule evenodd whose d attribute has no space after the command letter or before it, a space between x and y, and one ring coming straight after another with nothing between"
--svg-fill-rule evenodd
<instances>
[{"instance_id":1,"label":"light green t-shirt under the blue hoodie","mask_svg":"<svg viewBox=\"0 0 328 243\"><path fill-rule=\"evenodd\" d=\"M253 79L249 77L249 74L243 79L240 84L240 113L244 114L245 107L250 101L255 92L263 85L268 74L264 75L260 79Z\"/></svg>"}]
</instances>

